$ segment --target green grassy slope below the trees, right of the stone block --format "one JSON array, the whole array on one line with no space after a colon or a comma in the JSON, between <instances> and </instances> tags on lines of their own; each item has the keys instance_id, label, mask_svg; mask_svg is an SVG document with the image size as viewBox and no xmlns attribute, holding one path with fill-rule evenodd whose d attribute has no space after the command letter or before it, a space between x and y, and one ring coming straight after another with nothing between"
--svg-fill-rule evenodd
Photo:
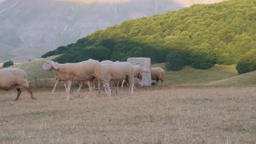
<instances>
[{"instance_id":1,"label":"green grassy slope below the trees, right of the stone block","mask_svg":"<svg viewBox=\"0 0 256 144\"><path fill-rule=\"evenodd\" d=\"M215 65L206 70L186 66L179 71L167 71L165 63L153 64L152 67L161 67L165 70L165 85L204 85L237 75L234 65Z\"/></svg>"}]
</instances>

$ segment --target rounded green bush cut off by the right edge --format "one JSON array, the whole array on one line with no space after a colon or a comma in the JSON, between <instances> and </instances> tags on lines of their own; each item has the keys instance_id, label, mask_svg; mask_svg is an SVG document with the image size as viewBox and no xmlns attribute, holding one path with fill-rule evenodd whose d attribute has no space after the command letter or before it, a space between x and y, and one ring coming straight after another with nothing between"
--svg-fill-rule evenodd
<instances>
[{"instance_id":1,"label":"rounded green bush cut off by the right edge","mask_svg":"<svg viewBox=\"0 0 256 144\"><path fill-rule=\"evenodd\" d=\"M248 73L256 70L256 50L246 52L236 65L238 74Z\"/></svg>"}]
</instances>

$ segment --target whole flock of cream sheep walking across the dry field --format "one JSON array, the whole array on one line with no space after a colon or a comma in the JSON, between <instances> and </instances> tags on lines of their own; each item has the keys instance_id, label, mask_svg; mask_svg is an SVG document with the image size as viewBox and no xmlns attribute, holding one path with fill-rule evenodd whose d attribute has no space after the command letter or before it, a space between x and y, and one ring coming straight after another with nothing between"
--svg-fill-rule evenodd
<instances>
[{"instance_id":1,"label":"whole flock of cream sheep walking across the dry field","mask_svg":"<svg viewBox=\"0 0 256 144\"><path fill-rule=\"evenodd\" d=\"M89 97L91 91L95 89L94 80L98 80L98 91L100 93L100 84L103 84L103 88L107 95L112 95L113 82L123 81L127 82L127 86L131 89L131 94L133 94L134 81L133 77L137 77L141 83L143 78L143 70L139 65L131 65L129 62L112 62L109 60L98 62L94 59L89 59L88 61L83 61L79 63L65 63L59 64L54 61L46 61L43 64L45 70L53 71L56 78L56 83L52 92L55 91L56 86L60 81L64 81L67 98L70 100L70 88L73 81L78 81L79 88L82 87L82 83L86 82L89 86L89 93L86 97ZM158 85L159 80L164 84L165 71L159 67L151 69L152 80L156 80L156 85ZM0 70L0 89L8 91L10 89L16 88L18 95L14 101L17 101L21 94L21 87L25 87L30 93L31 98L33 97L31 88L28 86L28 81L26 79L26 73L24 70L19 68L7 68ZM117 85L118 92L118 85Z\"/></svg>"}]
</instances>

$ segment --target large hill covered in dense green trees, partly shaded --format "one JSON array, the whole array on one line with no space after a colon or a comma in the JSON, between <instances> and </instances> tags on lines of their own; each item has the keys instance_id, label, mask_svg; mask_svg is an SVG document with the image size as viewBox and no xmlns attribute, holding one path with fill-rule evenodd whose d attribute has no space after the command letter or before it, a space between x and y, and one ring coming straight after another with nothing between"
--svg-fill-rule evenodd
<instances>
[{"instance_id":1,"label":"large hill covered in dense green trees, partly shaded","mask_svg":"<svg viewBox=\"0 0 256 144\"><path fill-rule=\"evenodd\" d=\"M197 4L124 21L42 57L64 53L55 59L60 63L89 58L126 61L127 57L141 56L165 62L168 52L176 51L185 64L195 68L236 64L241 56L256 49L255 16L255 0Z\"/></svg>"}]
</instances>

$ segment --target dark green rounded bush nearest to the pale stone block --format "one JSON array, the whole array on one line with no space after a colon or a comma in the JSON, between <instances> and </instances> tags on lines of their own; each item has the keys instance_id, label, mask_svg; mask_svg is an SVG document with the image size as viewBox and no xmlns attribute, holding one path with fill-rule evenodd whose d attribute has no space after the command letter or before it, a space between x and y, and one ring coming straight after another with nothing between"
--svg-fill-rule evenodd
<instances>
[{"instance_id":1,"label":"dark green rounded bush nearest to the pale stone block","mask_svg":"<svg viewBox=\"0 0 256 144\"><path fill-rule=\"evenodd\" d=\"M178 52L170 52L166 57L166 70L182 70L184 61Z\"/></svg>"}]
</instances>

